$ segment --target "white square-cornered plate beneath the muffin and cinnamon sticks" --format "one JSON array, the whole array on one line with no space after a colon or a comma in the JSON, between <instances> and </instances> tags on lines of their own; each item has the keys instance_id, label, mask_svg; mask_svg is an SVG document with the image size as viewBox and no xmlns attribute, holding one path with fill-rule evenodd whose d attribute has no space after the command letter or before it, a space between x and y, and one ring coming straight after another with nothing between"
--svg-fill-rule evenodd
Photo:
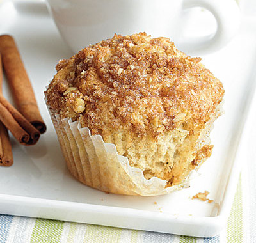
<instances>
[{"instance_id":1,"label":"white square-cornered plate beneath the muffin and cinnamon sticks","mask_svg":"<svg viewBox=\"0 0 256 243\"><path fill-rule=\"evenodd\" d=\"M252 73L256 63L255 29L254 19L244 19L239 35L227 47L203 57L205 66L223 82L226 112L216 121L212 131L212 157L200 168L191 188L150 198L119 196L80 184L68 173L63 161L44 104L43 91L55 73L58 60L69 58L72 53L61 40L46 9L41 5L36 8L35 5L31 8L19 5L15 9L11 3L4 3L0 8L0 34L12 34L17 40L48 130L33 147L20 146L12 141L15 162L10 168L0 168L0 183L4 185L0 188L1 213L187 235L216 233L225 225L241 159L244 159L241 151L233 166L239 132L248 111L247 101L252 97L250 91L255 82ZM4 91L9 97L6 87ZM232 168L234 171L229 178ZM214 203L191 200L191 196L205 190L210 192L209 198ZM118 221L125 217L126 221ZM179 222L179 229L175 228L175 222ZM166 223L168 226L161 228ZM183 231L180 225L184 226Z\"/></svg>"}]
</instances>

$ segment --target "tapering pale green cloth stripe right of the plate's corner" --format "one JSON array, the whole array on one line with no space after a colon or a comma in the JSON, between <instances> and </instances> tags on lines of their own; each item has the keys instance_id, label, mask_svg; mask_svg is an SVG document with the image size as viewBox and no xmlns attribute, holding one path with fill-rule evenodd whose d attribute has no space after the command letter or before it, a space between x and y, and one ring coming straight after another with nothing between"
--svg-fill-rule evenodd
<instances>
[{"instance_id":1,"label":"tapering pale green cloth stripe right of the plate's corner","mask_svg":"<svg viewBox=\"0 0 256 243\"><path fill-rule=\"evenodd\" d=\"M237 184L237 191L227 223L227 242L243 242L243 205L241 175Z\"/></svg>"}]
</instances>

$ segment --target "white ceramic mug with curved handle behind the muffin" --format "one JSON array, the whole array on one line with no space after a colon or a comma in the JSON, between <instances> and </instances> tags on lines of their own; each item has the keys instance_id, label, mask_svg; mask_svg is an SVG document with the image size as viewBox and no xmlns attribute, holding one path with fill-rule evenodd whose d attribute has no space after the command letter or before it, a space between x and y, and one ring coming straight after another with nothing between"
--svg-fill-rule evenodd
<instances>
[{"instance_id":1,"label":"white ceramic mug with curved handle behind the muffin","mask_svg":"<svg viewBox=\"0 0 256 243\"><path fill-rule=\"evenodd\" d=\"M234 0L47 0L64 40L77 52L111 38L145 31L153 37L169 37L184 52L201 54L223 47L239 26ZM209 10L217 23L211 36L184 38L180 16L186 8Z\"/></svg>"}]
</instances>

